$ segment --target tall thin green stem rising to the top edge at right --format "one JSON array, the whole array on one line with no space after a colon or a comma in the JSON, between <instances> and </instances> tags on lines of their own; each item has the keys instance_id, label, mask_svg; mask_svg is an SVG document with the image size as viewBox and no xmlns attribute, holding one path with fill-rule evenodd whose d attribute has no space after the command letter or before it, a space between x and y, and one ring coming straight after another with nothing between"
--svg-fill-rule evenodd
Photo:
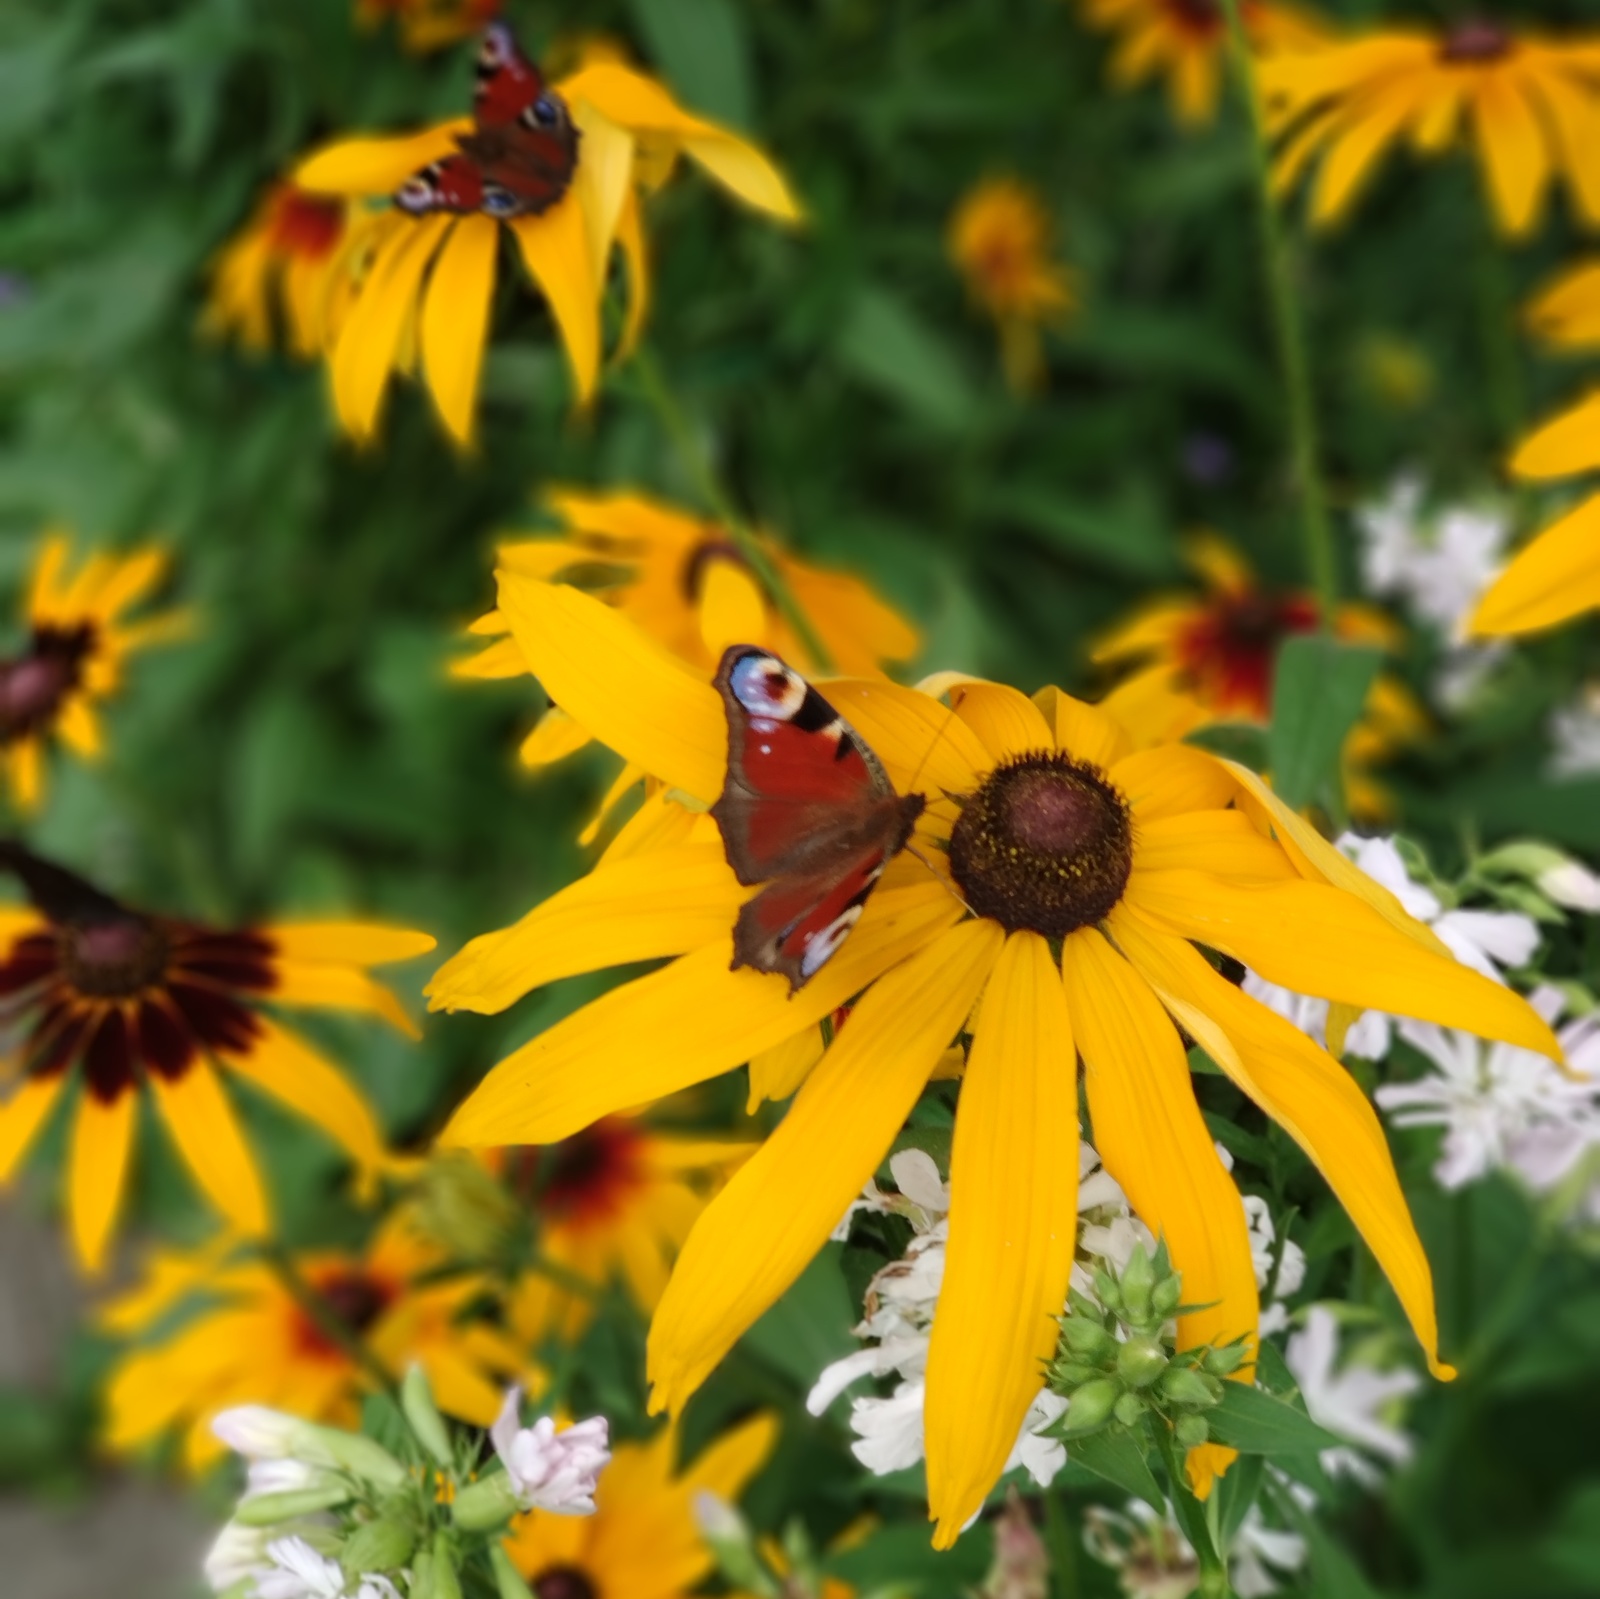
<instances>
[{"instance_id":1,"label":"tall thin green stem rising to the top edge at right","mask_svg":"<svg viewBox=\"0 0 1600 1599\"><path fill-rule=\"evenodd\" d=\"M1306 344L1306 322L1294 295L1283 219L1272 198L1272 150L1256 91L1256 74L1250 40L1240 18L1240 0L1222 0L1227 13L1229 50L1234 74L1250 115L1250 142L1256 171L1256 213L1261 234L1261 264L1267 275L1267 299L1272 307L1272 331L1278 347L1278 368L1288 400L1290 453L1294 467L1294 490L1299 495L1301 536L1306 544L1306 567L1317 591L1317 608L1325 632L1333 631L1339 603L1339 571L1333 554L1333 531L1328 525L1328 493L1322 479L1322 445L1317 429L1317 403L1310 387L1310 357Z\"/></svg>"}]
</instances>

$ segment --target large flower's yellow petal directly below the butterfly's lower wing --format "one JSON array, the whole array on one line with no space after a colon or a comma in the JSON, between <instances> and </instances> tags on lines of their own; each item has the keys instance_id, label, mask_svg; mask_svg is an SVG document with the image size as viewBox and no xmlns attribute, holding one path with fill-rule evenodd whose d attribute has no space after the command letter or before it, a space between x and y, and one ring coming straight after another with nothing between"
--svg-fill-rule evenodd
<instances>
[{"instance_id":1,"label":"large flower's yellow petal directly below the butterfly's lower wing","mask_svg":"<svg viewBox=\"0 0 1600 1599\"><path fill-rule=\"evenodd\" d=\"M814 1026L960 914L936 885L880 890L838 954L794 996L771 973L730 970L733 938L718 938L613 989L509 1055L440 1141L555 1143L613 1111L715 1077Z\"/></svg>"}]
</instances>

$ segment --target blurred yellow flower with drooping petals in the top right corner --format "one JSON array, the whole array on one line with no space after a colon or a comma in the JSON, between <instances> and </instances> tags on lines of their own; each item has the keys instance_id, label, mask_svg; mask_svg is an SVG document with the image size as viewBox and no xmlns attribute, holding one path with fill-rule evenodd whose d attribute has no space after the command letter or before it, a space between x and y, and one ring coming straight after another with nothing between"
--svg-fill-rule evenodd
<instances>
[{"instance_id":1,"label":"blurred yellow flower with drooping petals in the top right corner","mask_svg":"<svg viewBox=\"0 0 1600 1599\"><path fill-rule=\"evenodd\" d=\"M1437 155L1472 138L1504 232L1526 234L1563 176L1584 222L1600 224L1600 35L1544 40L1498 22L1395 29L1261 64L1267 125L1288 190L1320 157L1310 218L1333 222L1402 139Z\"/></svg>"}]
</instances>

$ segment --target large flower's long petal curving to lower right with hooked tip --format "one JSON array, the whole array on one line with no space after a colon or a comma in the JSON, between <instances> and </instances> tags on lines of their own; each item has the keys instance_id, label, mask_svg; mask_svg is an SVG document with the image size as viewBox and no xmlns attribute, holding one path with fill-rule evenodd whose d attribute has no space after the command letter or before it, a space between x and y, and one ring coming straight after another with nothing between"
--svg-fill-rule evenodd
<instances>
[{"instance_id":1,"label":"large flower's long petal curving to lower right with hooked tip","mask_svg":"<svg viewBox=\"0 0 1600 1599\"><path fill-rule=\"evenodd\" d=\"M1378 1112L1355 1079L1283 1016L1219 976L1190 944L1114 911L1123 952L1206 1053L1310 1156L1378 1258L1437 1377L1434 1279Z\"/></svg>"}]
</instances>

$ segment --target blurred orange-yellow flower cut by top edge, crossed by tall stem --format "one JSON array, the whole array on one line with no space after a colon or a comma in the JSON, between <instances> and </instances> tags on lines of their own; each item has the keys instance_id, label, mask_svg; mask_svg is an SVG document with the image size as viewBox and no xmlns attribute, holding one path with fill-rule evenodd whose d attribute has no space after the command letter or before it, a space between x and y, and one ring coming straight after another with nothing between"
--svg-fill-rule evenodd
<instances>
[{"instance_id":1,"label":"blurred orange-yellow flower cut by top edge, crossed by tall stem","mask_svg":"<svg viewBox=\"0 0 1600 1599\"><path fill-rule=\"evenodd\" d=\"M1165 77L1173 115L1197 128L1216 115L1227 72L1227 14L1222 0L1082 0L1085 21L1117 35L1110 80L1118 90ZM1254 50L1304 50L1325 37L1306 13L1264 0L1240 0Z\"/></svg>"}]
</instances>

